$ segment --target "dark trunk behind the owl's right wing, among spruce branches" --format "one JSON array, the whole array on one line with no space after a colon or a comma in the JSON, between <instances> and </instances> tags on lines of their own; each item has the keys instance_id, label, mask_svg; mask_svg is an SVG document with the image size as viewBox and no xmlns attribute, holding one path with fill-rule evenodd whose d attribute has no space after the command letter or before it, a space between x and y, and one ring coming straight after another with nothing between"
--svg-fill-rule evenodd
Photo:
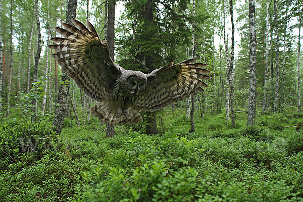
<instances>
[{"instance_id":1,"label":"dark trunk behind the owl's right wing, among spruce branches","mask_svg":"<svg viewBox=\"0 0 303 202\"><path fill-rule=\"evenodd\" d=\"M144 6L144 19L145 22L150 23L150 25L154 22L154 16L153 16L153 1L147 0ZM146 40L150 40L150 38L153 38L155 36L155 33L153 30L149 30ZM150 53L146 53L145 55L145 66L149 71L154 70L154 58L150 56ZM158 128L157 128L157 119L156 119L156 112L147 112L147 125L146 125L146 134L157 134Z\"/></svg>"}]
</instances>

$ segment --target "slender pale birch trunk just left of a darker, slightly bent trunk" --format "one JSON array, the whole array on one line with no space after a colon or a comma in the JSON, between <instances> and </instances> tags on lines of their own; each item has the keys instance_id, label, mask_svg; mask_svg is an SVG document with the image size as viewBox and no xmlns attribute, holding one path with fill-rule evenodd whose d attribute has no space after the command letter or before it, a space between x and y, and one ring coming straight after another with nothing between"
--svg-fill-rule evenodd
<instances>
[{"instance_id":1,"label":"slender pale birch trunk just left of a darker, slightly bent trunk","mask_svg":"<svg viewBox=\"0 0 303 202\"><path fill-rule=\"evenodd\" d=\"M226 75L228 74L229 69L229 59L228 59L228 43L226 37L226 0L223 0L223 35L224 35L224 45L225 45L225 57L226 57ZM228 80L227 80L227 85ZM229 92L226 90L226 119L229 120Z\"/></svg>"}]
</instances>

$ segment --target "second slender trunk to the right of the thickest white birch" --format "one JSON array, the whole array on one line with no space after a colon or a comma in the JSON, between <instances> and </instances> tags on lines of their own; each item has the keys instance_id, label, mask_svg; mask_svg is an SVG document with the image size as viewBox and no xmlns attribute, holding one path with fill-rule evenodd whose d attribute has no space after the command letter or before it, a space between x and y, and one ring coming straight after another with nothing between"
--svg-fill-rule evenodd
<instances>
[{"instance_id":1,"label":"second slender trunk to the right of the thickest white birch","mask_svg":"<svg viewBox=\"0 0 303 202\"><path fill-rule=\"evenodd\" d=\"M275 10L275 26L276 26L276 84L275 84L275 101L274 101L274 113L278 112L278 94L279 94L279 26L278 26L278 14L277 14L277 2L274 0Z\"/></svg>"}]
</instances>

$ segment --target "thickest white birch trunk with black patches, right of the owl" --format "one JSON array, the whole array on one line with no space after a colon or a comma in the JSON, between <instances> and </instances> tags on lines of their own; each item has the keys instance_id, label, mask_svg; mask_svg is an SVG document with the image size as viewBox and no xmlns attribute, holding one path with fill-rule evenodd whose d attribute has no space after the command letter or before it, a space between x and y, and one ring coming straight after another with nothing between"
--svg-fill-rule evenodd
<instances>
[{"instance_id":1,"label":"thickest white birch trunk with black patches, right of the owl","mask_svg":"<svg viewBox=\"0 0 303 202\"><path fill-rule=\"evenodd\" d=\"M255 23L255 0L249 0L249 96L247 126L255 125L256 118L256 23Z\"/></svg>"}]
</instances>

